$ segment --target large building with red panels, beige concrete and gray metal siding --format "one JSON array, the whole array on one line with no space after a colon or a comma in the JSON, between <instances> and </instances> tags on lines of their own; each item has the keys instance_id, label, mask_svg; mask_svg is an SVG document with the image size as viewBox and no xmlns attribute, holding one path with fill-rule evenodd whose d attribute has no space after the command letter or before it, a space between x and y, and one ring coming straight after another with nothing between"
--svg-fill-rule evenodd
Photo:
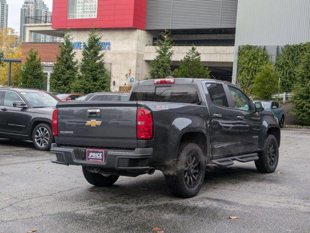
<instances>
[{"instance_id":1,"label":"large building with red panels, beige concrete and gray metal siding","mask_svg":"<svg viewBox=\"0 0 310 233\"><path fill-rule=\"evenodd\" d=\"M310 41L309 24L309 0L53 0L51 23L29 25L26 41L70 29L81 60L89 30L98 28L111 89L119 90L129 70L135 81L148 76L164 29L174 40L173 68L194 44L214 78L235 83L240 45Z\"/></svg>"}]
</instances>

